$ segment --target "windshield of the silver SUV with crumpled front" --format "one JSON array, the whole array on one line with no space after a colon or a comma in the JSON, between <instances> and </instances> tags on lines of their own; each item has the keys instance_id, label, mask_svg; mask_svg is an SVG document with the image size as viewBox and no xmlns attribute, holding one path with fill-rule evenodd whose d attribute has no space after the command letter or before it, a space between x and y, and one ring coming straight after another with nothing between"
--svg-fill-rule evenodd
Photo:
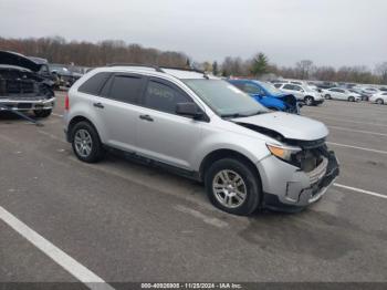
<instances>
[{"instance_id":1,"label":"windshield of the silver SUV with crumpled front","mask_svg":"<svg viewBox=\"0 0 387 290\"><path fill-rule=\"evenodd\" d=\"M220 116L249 116L269 112L232 84L221 80L182 80Z\"/></svg>"}]
</instances>

